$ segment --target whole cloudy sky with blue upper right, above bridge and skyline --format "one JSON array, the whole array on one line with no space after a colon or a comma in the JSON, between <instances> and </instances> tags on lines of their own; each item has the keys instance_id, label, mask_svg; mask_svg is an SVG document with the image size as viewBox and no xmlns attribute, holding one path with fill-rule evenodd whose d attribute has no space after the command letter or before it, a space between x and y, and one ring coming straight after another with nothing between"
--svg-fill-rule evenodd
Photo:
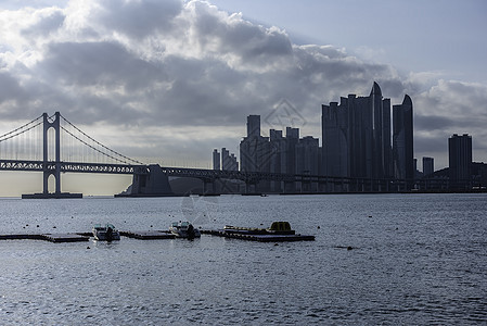
<instances>
[{"instance_id":1,"label":"whole cloudy sky with blue upper right, above bridge and skyline","mask_svg":"<svg viewBox=\"0 0 487 326\"><path fill-rule=\"evenodd\" d=\"M239 154L248 114L264 136L320 137L321 104L377 82L393 104L412 98L419 167L448 166L453 134L487 162L486 15L483 0L4 0L0 134L61 111L128 156L209 167L214 148ZM93 195L130 183L67 178Z\"/></svg>"}]
</instances>

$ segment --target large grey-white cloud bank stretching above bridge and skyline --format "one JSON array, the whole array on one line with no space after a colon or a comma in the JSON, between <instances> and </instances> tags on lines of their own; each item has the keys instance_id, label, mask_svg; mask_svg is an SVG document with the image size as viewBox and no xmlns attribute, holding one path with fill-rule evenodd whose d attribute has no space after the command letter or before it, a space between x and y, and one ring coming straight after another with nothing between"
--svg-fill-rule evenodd
<instances>
[{"instance_id":1,"label":"large grey-white cloud bank stretching above bridge and skyline","mask_svg":"<svg viewBox=\"0 0 487 326\"><path fill-rule=\"evenodd\" d=\"M411 96L418 154L436 150L452 133L487 136L485 85L438 80L437 72L401 76L344 49L294 45L275 26L198 0L61 5L0 11L0 112L13 127L60 110L88 127L139 129L139 143L164 141L154 147L164 156L175 154L165 150L169 142L171 150L209 153L217 130L235 130L221 137L236 147L246 115L266 116L283 98L306 118L302 135L319 137L322 103L368 95L376 80L393 104ZM181 137L193 127L197 143ZM153 128L170 133L162 140ZM124 143L140 155L133 139Z\"/></svg>"}]
</instances>

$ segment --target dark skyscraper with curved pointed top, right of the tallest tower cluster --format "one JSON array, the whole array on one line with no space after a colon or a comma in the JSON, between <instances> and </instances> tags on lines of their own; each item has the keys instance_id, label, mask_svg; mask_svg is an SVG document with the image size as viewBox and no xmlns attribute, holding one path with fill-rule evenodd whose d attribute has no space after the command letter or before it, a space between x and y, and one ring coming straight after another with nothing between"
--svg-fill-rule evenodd
<instances>
[{"instance_id":1,"label":"dark skyscraper with curved pointed top, right of the tallest tower cluster","mask_svg":"<svg viewBox=\"0 0 487 326\"><path fill-rule=\"evenodd\" d=\"M393 106L393 162L397 179L414 179L412 101L406 95L402 104Z\"/></svg>"}]
</instances>

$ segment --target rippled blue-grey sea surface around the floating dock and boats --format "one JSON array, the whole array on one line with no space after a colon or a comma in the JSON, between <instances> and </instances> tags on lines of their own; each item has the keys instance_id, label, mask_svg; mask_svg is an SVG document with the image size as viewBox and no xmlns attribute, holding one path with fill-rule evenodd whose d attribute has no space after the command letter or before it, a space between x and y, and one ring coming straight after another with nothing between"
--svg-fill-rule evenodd
<instances>
[{"instance_id":1,"label":"rippled blue-grey sea surface around the floating dock and boats","mask_svg":"<svg viewBox=\"0 0 487 326\"><path fill-rule=\"evenodd\" d=\"M0 234L179 220L316 241L1 240L0 324L487 324L486 195L0 199Z\"/></svg>"}]
</instances>

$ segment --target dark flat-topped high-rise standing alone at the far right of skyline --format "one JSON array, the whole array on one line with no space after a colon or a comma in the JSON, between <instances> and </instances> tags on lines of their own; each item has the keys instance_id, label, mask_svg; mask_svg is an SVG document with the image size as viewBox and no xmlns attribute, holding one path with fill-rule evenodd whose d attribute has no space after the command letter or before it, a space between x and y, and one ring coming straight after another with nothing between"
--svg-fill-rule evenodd
<instances>
[{"instance_id":1,"label":"dark flat-topped high-rise standing alone at the far right of skyline","mask_svg":"<svg viewBox=\"0 0 487 326\"><path fill-rule=\"evenodd\" d=\"M448 139L450 187L464 188L472 178L472 136L453 134Z\"/></svg>"}]
</instances>

